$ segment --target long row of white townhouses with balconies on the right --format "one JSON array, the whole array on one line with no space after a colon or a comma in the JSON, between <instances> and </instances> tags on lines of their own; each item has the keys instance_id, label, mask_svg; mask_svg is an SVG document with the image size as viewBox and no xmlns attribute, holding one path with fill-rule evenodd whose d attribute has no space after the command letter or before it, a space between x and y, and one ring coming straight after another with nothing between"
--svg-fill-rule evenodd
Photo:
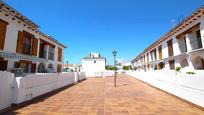
<instances>
[{"instance_id":1,"label":"long row of white townhouses with balconies on the right","mask_svg":"<svg viewBox=\"0 0 204 115\"><path fill-rule=\"evenodd\" d=\"M204 7L158 39L132 60L135 70L204 69Z\"/></svg>"}]
</instances>

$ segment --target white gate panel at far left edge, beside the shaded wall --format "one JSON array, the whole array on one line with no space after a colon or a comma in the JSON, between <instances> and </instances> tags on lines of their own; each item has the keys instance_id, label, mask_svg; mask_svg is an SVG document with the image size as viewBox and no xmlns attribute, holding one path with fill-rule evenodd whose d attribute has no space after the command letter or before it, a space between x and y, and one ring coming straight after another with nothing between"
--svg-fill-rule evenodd
<instances>
[{"instance_id":1,"label":"white gate panel at far left edge, beside the shaded wall","mask_svg":"<svg viewBox=\"0 0 204 115\"><path fill-rule=\"evenodd\" d=\"M11 106L13 82L12 73L0 71L0 110Z\"/></svg>"}]
</instances>

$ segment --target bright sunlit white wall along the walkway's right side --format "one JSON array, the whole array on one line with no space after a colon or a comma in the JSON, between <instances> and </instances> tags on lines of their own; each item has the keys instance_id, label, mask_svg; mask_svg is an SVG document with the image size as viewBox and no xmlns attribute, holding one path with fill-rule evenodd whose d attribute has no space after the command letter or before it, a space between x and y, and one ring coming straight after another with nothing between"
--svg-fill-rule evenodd
<instances>
[{"instance_id":1,"label":"bright sunlit white wall along the walkway's right side","mask_svg":"<svg viewBox=\"0 0 204 115\"><path fill-rule=\"evenodd\" d=\"M126 74L146 82L154 87L204 107L204 74L188 75L175 71L129 71Z\"/></svg>"}]
</instances>

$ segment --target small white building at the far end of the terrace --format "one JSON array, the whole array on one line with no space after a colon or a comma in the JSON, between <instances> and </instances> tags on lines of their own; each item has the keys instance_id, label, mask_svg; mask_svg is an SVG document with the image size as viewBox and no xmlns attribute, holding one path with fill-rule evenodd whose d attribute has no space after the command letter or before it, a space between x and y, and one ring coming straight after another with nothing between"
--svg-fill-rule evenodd
<instances>
[{"instance_id":1,"label":"small white building at the far end of the terrace","mask_svg":"<svg viewBox=\"0 0 204 115\"><path fill-rule=\"evenodd\" d=\"M104 72L105 66L106 58L98 53L90 53L82 59L82 71L86 72L86 76L95 76L97 72Z\"/></svg>"}]
</instances>

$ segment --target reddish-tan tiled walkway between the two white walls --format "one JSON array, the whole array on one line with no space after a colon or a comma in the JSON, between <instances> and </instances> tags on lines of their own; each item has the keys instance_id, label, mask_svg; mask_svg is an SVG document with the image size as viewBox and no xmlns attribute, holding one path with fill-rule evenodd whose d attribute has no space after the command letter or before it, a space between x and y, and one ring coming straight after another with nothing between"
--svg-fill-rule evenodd
<instances>
[{"instance_id":1,"label":"reddish-tan tiled walkway between the two white walls","mask_svg":"<svg viewBox=\"0 0 204 115\"><path fill-rule=\"evenodd\" d=\"M90 78L8 114L204 115L204 111L134 78Z\"/></svg>"}]
</instances>

